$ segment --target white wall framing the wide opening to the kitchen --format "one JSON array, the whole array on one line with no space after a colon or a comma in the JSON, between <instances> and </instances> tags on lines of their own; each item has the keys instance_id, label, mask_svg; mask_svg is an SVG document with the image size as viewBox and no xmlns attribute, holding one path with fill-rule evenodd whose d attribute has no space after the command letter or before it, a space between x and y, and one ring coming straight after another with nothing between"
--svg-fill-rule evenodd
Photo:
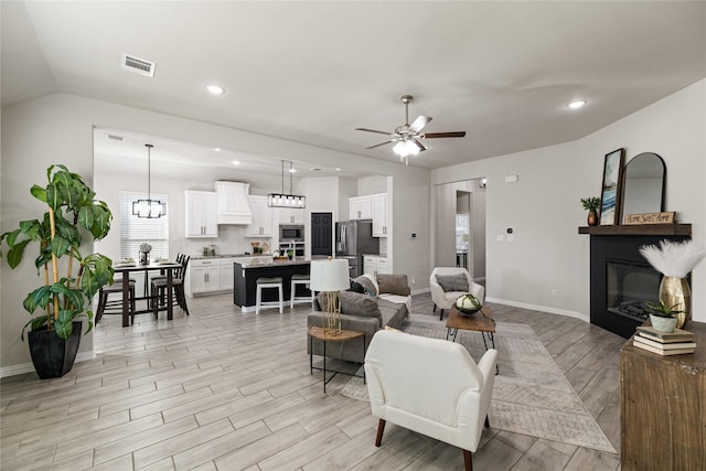
<instances>
[{"instance_id":1,"label":"white wall framing the wide opening to the kitchen","mask_svg":"<svg viewBox=\"0 0 706 471\"><path fill-rule=\"evenodd\" d=\"M105 101L87 99L66 94L44 96L34 100L6 106L2 108L2 169L1 169L1 212L0 231L14 229L21 220L42 214L43 207L29 195L34 183L43 183L45 170L52 163L64 163L73 172L82 174L93 185L93 128L122 129L165 139L193 142L206 147L223 147L247 153L265 154L311 162L313 165L349 168L355 162L371 173L399 176L399 207L410 202L415 210L414 221L417 229L429 227L428 185L430 172L414 169L394 162L367 159L360 156L315 148L299 142L287 141L267 136L245 132L206 122L183 119L174 116L146 111L138 108L119 106ZM140 176L142 173L140 172ZM408 175L408 176L407 176ZM278 188L278 186L277 186ZM100 189L96 189L100 192ZM395 183L395 191L397 183ZM346 203L347 206L347 203ZM400 213L402 214L402 213ZM402 215L395 215L395 222L406 225ZM395 259L395 269L400 272L418 274L427 270L428 247L420 247L400 237L395 240L400 254L419 251L421 257ZM421 260L421 261L420 261ZM0 319L0 371L1 375L31 371L29 349L20 341L20 331L28 315L22 310L22 299L30 291L28 287L36 285L36 270L33 264L25 263L15 270L1 264L2 286ZM93 335L84 336L79 353L93 351Z\"/></svg>"}]
</instances>

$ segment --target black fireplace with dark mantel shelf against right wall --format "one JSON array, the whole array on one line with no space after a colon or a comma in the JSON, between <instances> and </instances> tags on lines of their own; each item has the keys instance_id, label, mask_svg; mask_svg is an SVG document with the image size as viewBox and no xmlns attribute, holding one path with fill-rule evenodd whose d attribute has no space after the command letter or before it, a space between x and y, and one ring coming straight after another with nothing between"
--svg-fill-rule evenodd
<instances>
[{"instance_id":1,"label":"black fireplace with dark mantel shelf against right wall","mask_svg":"<svg viewBox=\"0 0 706 471\"><path fill-rule=\"evenodd\" d=\"M682 242L688 238L674 234L591 234L591 323L630 338L646 319L646 313L641 312L642 301L657 299L662 278L640 255L640 247L657 245L664 239Z\"/></svg>"}]
</instances>

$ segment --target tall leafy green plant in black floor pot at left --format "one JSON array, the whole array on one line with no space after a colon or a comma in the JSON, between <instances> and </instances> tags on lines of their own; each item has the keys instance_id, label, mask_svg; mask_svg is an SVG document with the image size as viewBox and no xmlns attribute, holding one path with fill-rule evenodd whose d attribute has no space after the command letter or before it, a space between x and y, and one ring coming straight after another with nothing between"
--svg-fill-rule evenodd
<instances>
[{"instance_id":1,"label":"tall leafy green plant in black floor pot at left","mask_svg":"<svg viewBox=\"0 0 706 471\"><path fill-rule=\"evenodd\" d=\"M7 245L7 261L17 268L30 243L36 243L34 265L43 282L23 301L34 314L22 329L28 333L32 363L39 376L60 377L71 371L81 342L82 319L93 329L93 298L113 283L113 260L100 255L82 256L81 245L104 238L113 214L107 204L95 200L95 192L64 165L46 170L46 186L33 185L32 196L47 206L42 220L20 222L20 227L0 235ZM74 274L75 271L75 274Z\"/></svg>"}]
</instances>

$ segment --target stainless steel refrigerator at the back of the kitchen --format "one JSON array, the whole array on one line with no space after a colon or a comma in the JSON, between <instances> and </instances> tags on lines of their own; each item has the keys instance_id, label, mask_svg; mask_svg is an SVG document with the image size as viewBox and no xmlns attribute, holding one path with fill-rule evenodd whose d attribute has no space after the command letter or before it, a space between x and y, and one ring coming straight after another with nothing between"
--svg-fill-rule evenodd
<instances>
[{"instance_id":1,"label":"stainless steel refrigerator at the back of the kitchen","mask_svg":"<svg viewBox=\"0 0 706 471\"><path fill-rule=\"evenodd\" d=\"M335 256L349 259L351 278L363 275L363 254L379 254L379 238L373 237L370 220L335 223Z\"/></svg>"}]
</instances>

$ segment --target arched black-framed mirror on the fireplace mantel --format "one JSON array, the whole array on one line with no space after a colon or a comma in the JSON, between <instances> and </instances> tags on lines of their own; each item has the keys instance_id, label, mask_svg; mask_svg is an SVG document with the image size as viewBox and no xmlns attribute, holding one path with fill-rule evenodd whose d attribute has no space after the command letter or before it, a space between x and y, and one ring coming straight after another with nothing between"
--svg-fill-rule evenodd
<instances>
[{"instance_id":1,"label":"arched black-framed mirror on the fireplace mantel","mask_svg":"<svg viewBox=\"0 0 706 471\"><path fill-rule=\"evenodd\" d=\"M664 211L666 165L660 156L643 152L625 165L622 214L661 213Z\"/></svg>"}]
</instances>

